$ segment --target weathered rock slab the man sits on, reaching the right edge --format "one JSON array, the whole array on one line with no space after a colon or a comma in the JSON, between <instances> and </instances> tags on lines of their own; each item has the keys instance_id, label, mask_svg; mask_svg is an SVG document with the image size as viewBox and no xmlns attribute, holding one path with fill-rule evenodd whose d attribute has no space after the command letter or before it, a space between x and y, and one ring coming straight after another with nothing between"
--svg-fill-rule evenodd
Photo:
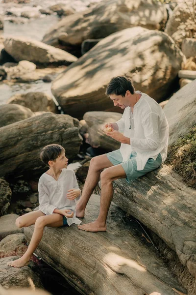
<instances>
[{"instance_id":1,"label":"weathered rock slab the man sits on, reaching the right edge","mask_svg":"<svg viewBox=\"0 0 196 295\"><path fill-rule=\"evenodd\" d=\"M166 165L131 185L125 179L113 184L114 202L160 236L196 277L196 190Z\"/></svg>"}]
</instances>

